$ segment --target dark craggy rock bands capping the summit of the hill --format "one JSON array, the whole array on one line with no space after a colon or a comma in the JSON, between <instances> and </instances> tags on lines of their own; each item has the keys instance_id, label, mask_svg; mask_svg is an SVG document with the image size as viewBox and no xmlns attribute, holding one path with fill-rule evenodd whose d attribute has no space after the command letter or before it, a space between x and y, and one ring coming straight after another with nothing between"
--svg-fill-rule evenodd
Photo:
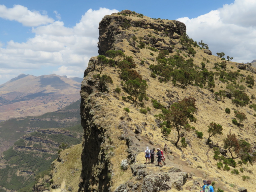
<instances>
[{"instance_id":1,"label":"dark craggy rock bands capping the summit of the hill","mask_svg":"<svg viewBox=\"0 0 256 192\"><path fill-rule=\"evenodd\" d=\"M129 10L125 11L130 12ZM126 12L122 13L128 14ZM123 42L125 39L131 42L130 44L135 49L134 52L137 52L137 47L134 46L135 42L132 42L132 36L134 34L129 31L120 30L125 22L129 23L132 27L139 27L143 29L149 28L159 32L164 31L164 33L172 39L178 39L180 38L180 35L186 33L186 25L179 21L164 23L162 20L153 22L152 20L146 20L143 18L132 20L130 17L124 17L123 15L106 15L99 23L99 55L105 55L106 51L109 50L122 50L122 47L117 47L115 43ZM158 50L168 50L170 53L172 52L172 41L165 42L163 38L153 38L148 36L144 36L143 41L146 44L151 43L154 47L158 47Z\"/></svg>"}]
</instances>

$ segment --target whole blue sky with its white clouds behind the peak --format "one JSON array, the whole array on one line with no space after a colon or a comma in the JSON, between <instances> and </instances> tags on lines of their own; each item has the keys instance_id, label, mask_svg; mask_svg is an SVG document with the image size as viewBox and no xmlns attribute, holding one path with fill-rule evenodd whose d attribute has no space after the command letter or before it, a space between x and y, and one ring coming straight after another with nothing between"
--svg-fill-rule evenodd
<instances>
[{"instance_id":1,"label":"whole blue sky with its white clouds behind the peak","mask_svg":"<svg viewBox=\"0 0 256 192\"><path fill-rule=\"evenodd\" d=\"M255 0L2 0L0 84L21 73L83 77L97 54L98 23L129 9L151 18L179 20L187 34L236 62L256 59Z\"/></svg>"}]
</instances>

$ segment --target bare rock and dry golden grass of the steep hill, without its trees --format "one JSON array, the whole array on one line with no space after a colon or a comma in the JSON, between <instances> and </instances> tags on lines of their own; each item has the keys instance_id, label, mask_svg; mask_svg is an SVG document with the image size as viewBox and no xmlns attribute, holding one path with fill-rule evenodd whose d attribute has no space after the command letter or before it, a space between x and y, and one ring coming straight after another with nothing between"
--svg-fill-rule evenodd
<instances>
[{"instance_id":1,"label":"bare rock and dry golden grass of the steep hill, without its trees","mask_svg":"<svg viewBox=\"0 0 256 192\"><path fill-rule=\"evenodd\" d=\"M230 184L227 179L230 175L227 171L217 169L217 162L213 158L214 151L211 148L223 150L223 139L233 131L236 134L240 133L238 134L240 139L246 137L250 143L253 143L255 135L252 130L247 131L248 136L242 136L240 128L231 125L230 118L234 115L225 113L226 107L231 110L233 108L231 99L218 102L217 98L218 103L216 102L213 92L223 89L223 86L226 86L225 82L218 81L216 76L217 81L211 91L205 84L202 86L205 89L194 86L196 82L184 87L181 81L175 85L176 81L171 82L170 78L163 77L164 72L168 72L168 68L166 71L156 73L156 78L152 75L152 66L150 69L150 65L161 64L162 61L159 61L157 55L160 51L167 50L168 54L165 57L169 58L169 61L175 57L184 58L190 64L192 61L192 66L195 66L197 71L202 61L206 59L209 62L207 61L205 68L208 71L215 70L214 63L220 63L221 59L211 55L209 50L197 46L193 47L193 54L190 53L186 45L188 42L186 42L185 33L186 26L181 22L151 19L129 10L106 15L102 19L99 24L98 53L105 55L109 50L121 50L127 57L132 57L136 64L135 69L132 70L136 70L141 75L140 78L145 79L147 91L142 101L130 100L127 89L125 91L123 86L125 83L122 80L125 80L121 79L122 71L114 66L107 66L101 73L101 75L109 75L113 84L108 84L107 91L99 91L100 79L97 78L99 61L96 57L90 59L80 92L81 124L84 127L84 136L81 156L83 168L79 191L155 192L170 189L193 191L199 189L196 182L202 182L206 177L216 181L217 188L230 192L236 190L225 185L225 182ZM235 72L238 69L234 62L226 64L227 72ZM118 62L116 65L119 65ZM180 66L179 64L174 69ZM242 73L247 72L241 71ZM253 74L250 72L250 75ZM121 88L121 93L117 92L117 87ZM251 89L247 91L249 94L255 94ZM171 134L162 134L163 120L155 116L162 111L154 108L151 99L168 109L170 105L184 97L196 99L197 112L194 117L197 121L189 124L194 126L196 131L202 131L206 138L199 139L194 131L185 132L184 130L181 135L186 137L185 142L188 147L177 148L173 144L177 140L178 133L172 128ZM129 108L129 113L124 110L124 107ZM146 114L142 113L142 109L146 110L146 108L148 109ZM246 111L250 109L244 107L240 110L248 113ZM252 113L250 111L250 114ZM247 117L248 130L254 129L252 123L254 119L252 115ZM223 126L223 135L214 138L214 142L209 146L206 145L207 126L212 121ZM163 149L165 143L168 146L165 154L166 165L158 167L156 159L154 164L145 164L146 147ZM178 145L180 146L181 143L179 142ZM229 156L225 150L222 153L225 157ZM244 168L243 170L247 169L248 174L250 171L253 172L253 165L248 165L247 168L242 167L243 165L239 166ZM254 176L250 174L250 177ZM236 188L245 185L238 180L235 180ZM251 184L246 183L246 185Z\"/></svg>"}]
</instances>

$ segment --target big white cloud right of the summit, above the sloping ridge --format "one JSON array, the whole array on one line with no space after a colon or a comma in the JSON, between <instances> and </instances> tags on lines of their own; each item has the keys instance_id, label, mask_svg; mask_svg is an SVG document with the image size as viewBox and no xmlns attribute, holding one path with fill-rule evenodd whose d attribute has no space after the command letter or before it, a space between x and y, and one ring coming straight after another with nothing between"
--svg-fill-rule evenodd
<instances>
[{"instance_id":1,"label":"big white cloud right of the summit, above the sloping ridge","mask_svg":"<svg viewBox=\"0 0 256 192\"><path fill-rule=\"evenodd\" d=\"M224 52L236 62L256 59L256 1L235 0L197 18L179 18L187 34L195 41L203 40L214 55Z\"/></svg>"}]
</instances>

